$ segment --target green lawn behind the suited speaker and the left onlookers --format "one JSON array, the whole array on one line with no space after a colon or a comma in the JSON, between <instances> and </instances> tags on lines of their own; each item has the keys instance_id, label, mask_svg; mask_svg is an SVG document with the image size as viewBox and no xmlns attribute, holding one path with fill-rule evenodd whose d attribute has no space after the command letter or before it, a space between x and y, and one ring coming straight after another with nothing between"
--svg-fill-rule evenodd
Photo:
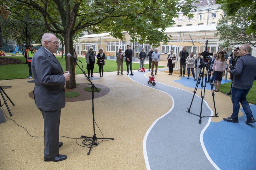
<instances>
[{"instance_id":1,"label":"green lawn behind the suited speaker and the left onlookers","mask_svg":"<svg viewBox=\"0 0 256 170\"><path fill-rule=\"evenodd\" d=\"M26 63L26 58L24 56L5 56L5 57L10 57L10 58L15 58L15 59L20 59L22 62ZM61 56L56 56L56 58L59 60L63 70L65 71L65 57L61 58ZM85 58L78 57L80 61L83 63L83 67L85 72L87 73L86 70L86 63L85 63ZM105 65L104 65L104 72L109 72L109 71L117 71L117 64L116 61L114 60L105 60ZM82 64L78 62L80 67L82 67ZM132 69L133 70L138 70L139 69L139 63L132 63ZM161 68L163 66L158 66L158 68ZM145 68L148 68L148 64L145 64ZM0 80L10 80L10 79L19 79L19 78L28 78L28 64L9 64L9 65L1 65L0 66L1 70L1 75L0 75ZM126 63L124 63L124 70L126 70ZM98 73L99 72L99 67L97 64L94 66L93 72ZM83 74L83 72L79 69L78 66L76 66L76 74Z\"/></svg>"}]
</instances>

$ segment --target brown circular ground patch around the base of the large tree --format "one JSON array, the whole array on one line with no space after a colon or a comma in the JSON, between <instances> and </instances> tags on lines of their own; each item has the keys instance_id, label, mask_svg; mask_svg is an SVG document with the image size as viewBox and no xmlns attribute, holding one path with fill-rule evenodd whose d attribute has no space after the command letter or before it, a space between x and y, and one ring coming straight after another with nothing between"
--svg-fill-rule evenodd
<instances>
[{"instance_id":1,"label":"brown circular ground patch around the base of the large tree","mask_svg":"<svg viewBox=\"0 0 256 170\"><path fill-rule=\"evenodd\" d=\"M99 87L101 89L101 91L98 92L94 92L94 99L104 96L106 94L108 94L108 92L110 92L110 89L107 86L104 85L98 85L98 84L94 84L96 87ZM77 97L65 97L66 102L72 102L72 101L84 101L84 100L92 100L92 92L87 92L84 90L84 87L91 87L91 84L88 83L79 83L79 85L76 85L75 89L67 89L65 86L65 92L69 92L69 91L75 91L75 92L79 92L80 95ZM28 96L32 99L34 99L34 94L33 91L30 92L28 94Z\"/></svg>"}]
</instances>

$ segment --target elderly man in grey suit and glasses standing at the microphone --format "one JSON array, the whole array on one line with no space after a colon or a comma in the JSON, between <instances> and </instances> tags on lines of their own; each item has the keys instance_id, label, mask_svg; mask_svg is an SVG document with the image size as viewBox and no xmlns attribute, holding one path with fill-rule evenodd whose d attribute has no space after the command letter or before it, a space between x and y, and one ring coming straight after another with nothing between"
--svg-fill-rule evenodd
<instances>
[{"instance_id":1,"label":"elderly man in grey suit and glasses standing at the microphone","mask_svg":"<svg viewBox=\"0 0 256 170\"><path fill-rule=\"evenodd\" d=\"M44 161L61 161L67 159L60 155L59 127L60 110L65 107L64 85L69 81L68 71L62 67L53 53L59 42L51 33L45 33L41 40L42 47L32 58L31 68L35 81L34 97L36 106L44 118Z\"/></svg>"}]
</instances>

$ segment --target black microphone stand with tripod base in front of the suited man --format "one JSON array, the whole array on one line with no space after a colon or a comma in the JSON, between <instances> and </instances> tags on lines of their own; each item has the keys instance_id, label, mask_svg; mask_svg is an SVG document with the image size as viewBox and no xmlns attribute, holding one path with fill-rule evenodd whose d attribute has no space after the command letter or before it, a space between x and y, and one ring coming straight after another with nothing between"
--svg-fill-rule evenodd
<instances>
[{"instance_id":1,"label":"black microphone stand with tripod base in front of the suited man","mask_svg":"<svg viewBox=\"0 0 256 170\"><path fill-rule=\"evenodd\" d=\"M90 138L92 139L92 143L90 144L90 149L89 149L89 152L87 153L87 155L90 155L90 152L91 152L91 149L92 149L92 146L93 145L98 145L95 141L97 139L111 139L111 140L114 140L114 138L97 138L96 137L96 134L95 134L95 120L94 120L94 103L93 103L93 99L94 99L94 89L99 93L99 90L95 87L95 85L92 83L92 81L90 80L90 78L88 78L88 76L85 74L85 71L78 65L77 63L77 59L74 58L74 61L76 63L76 65L80 68L80 70L84 73L84 76L85 78L90 82L90 84L92 85L91 86L91 89L92 89L92 119L93 119L93 136L92 137L87 137L87 136L81 136L81 138ZM81 61L80 61L81 62Z\"/></svg>"}]
</instances>

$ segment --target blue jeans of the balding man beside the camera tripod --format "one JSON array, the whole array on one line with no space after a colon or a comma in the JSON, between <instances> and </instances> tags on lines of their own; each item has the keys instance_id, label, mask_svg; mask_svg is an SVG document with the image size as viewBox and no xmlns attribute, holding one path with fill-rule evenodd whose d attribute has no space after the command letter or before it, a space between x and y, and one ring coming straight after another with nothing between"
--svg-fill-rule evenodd
<instances>
[{"instance_id":1,"label":"blue jeans of the balding man beside the camera tripod","mask_svg":"<svg viewBox=\"0 0 256 170\"><path fill-rule=\"evenodd\" d=\"M232 118L238 118L238 112L240 109L239 102L244 109L247 119L252 117L252 110L250 109L249 103L246 101L246 95L248 94L249 90L250 89L237 89L235 87L231 88L231 101L233 103L233 113L231 115Z\"/></svg>"}]
</instances>

